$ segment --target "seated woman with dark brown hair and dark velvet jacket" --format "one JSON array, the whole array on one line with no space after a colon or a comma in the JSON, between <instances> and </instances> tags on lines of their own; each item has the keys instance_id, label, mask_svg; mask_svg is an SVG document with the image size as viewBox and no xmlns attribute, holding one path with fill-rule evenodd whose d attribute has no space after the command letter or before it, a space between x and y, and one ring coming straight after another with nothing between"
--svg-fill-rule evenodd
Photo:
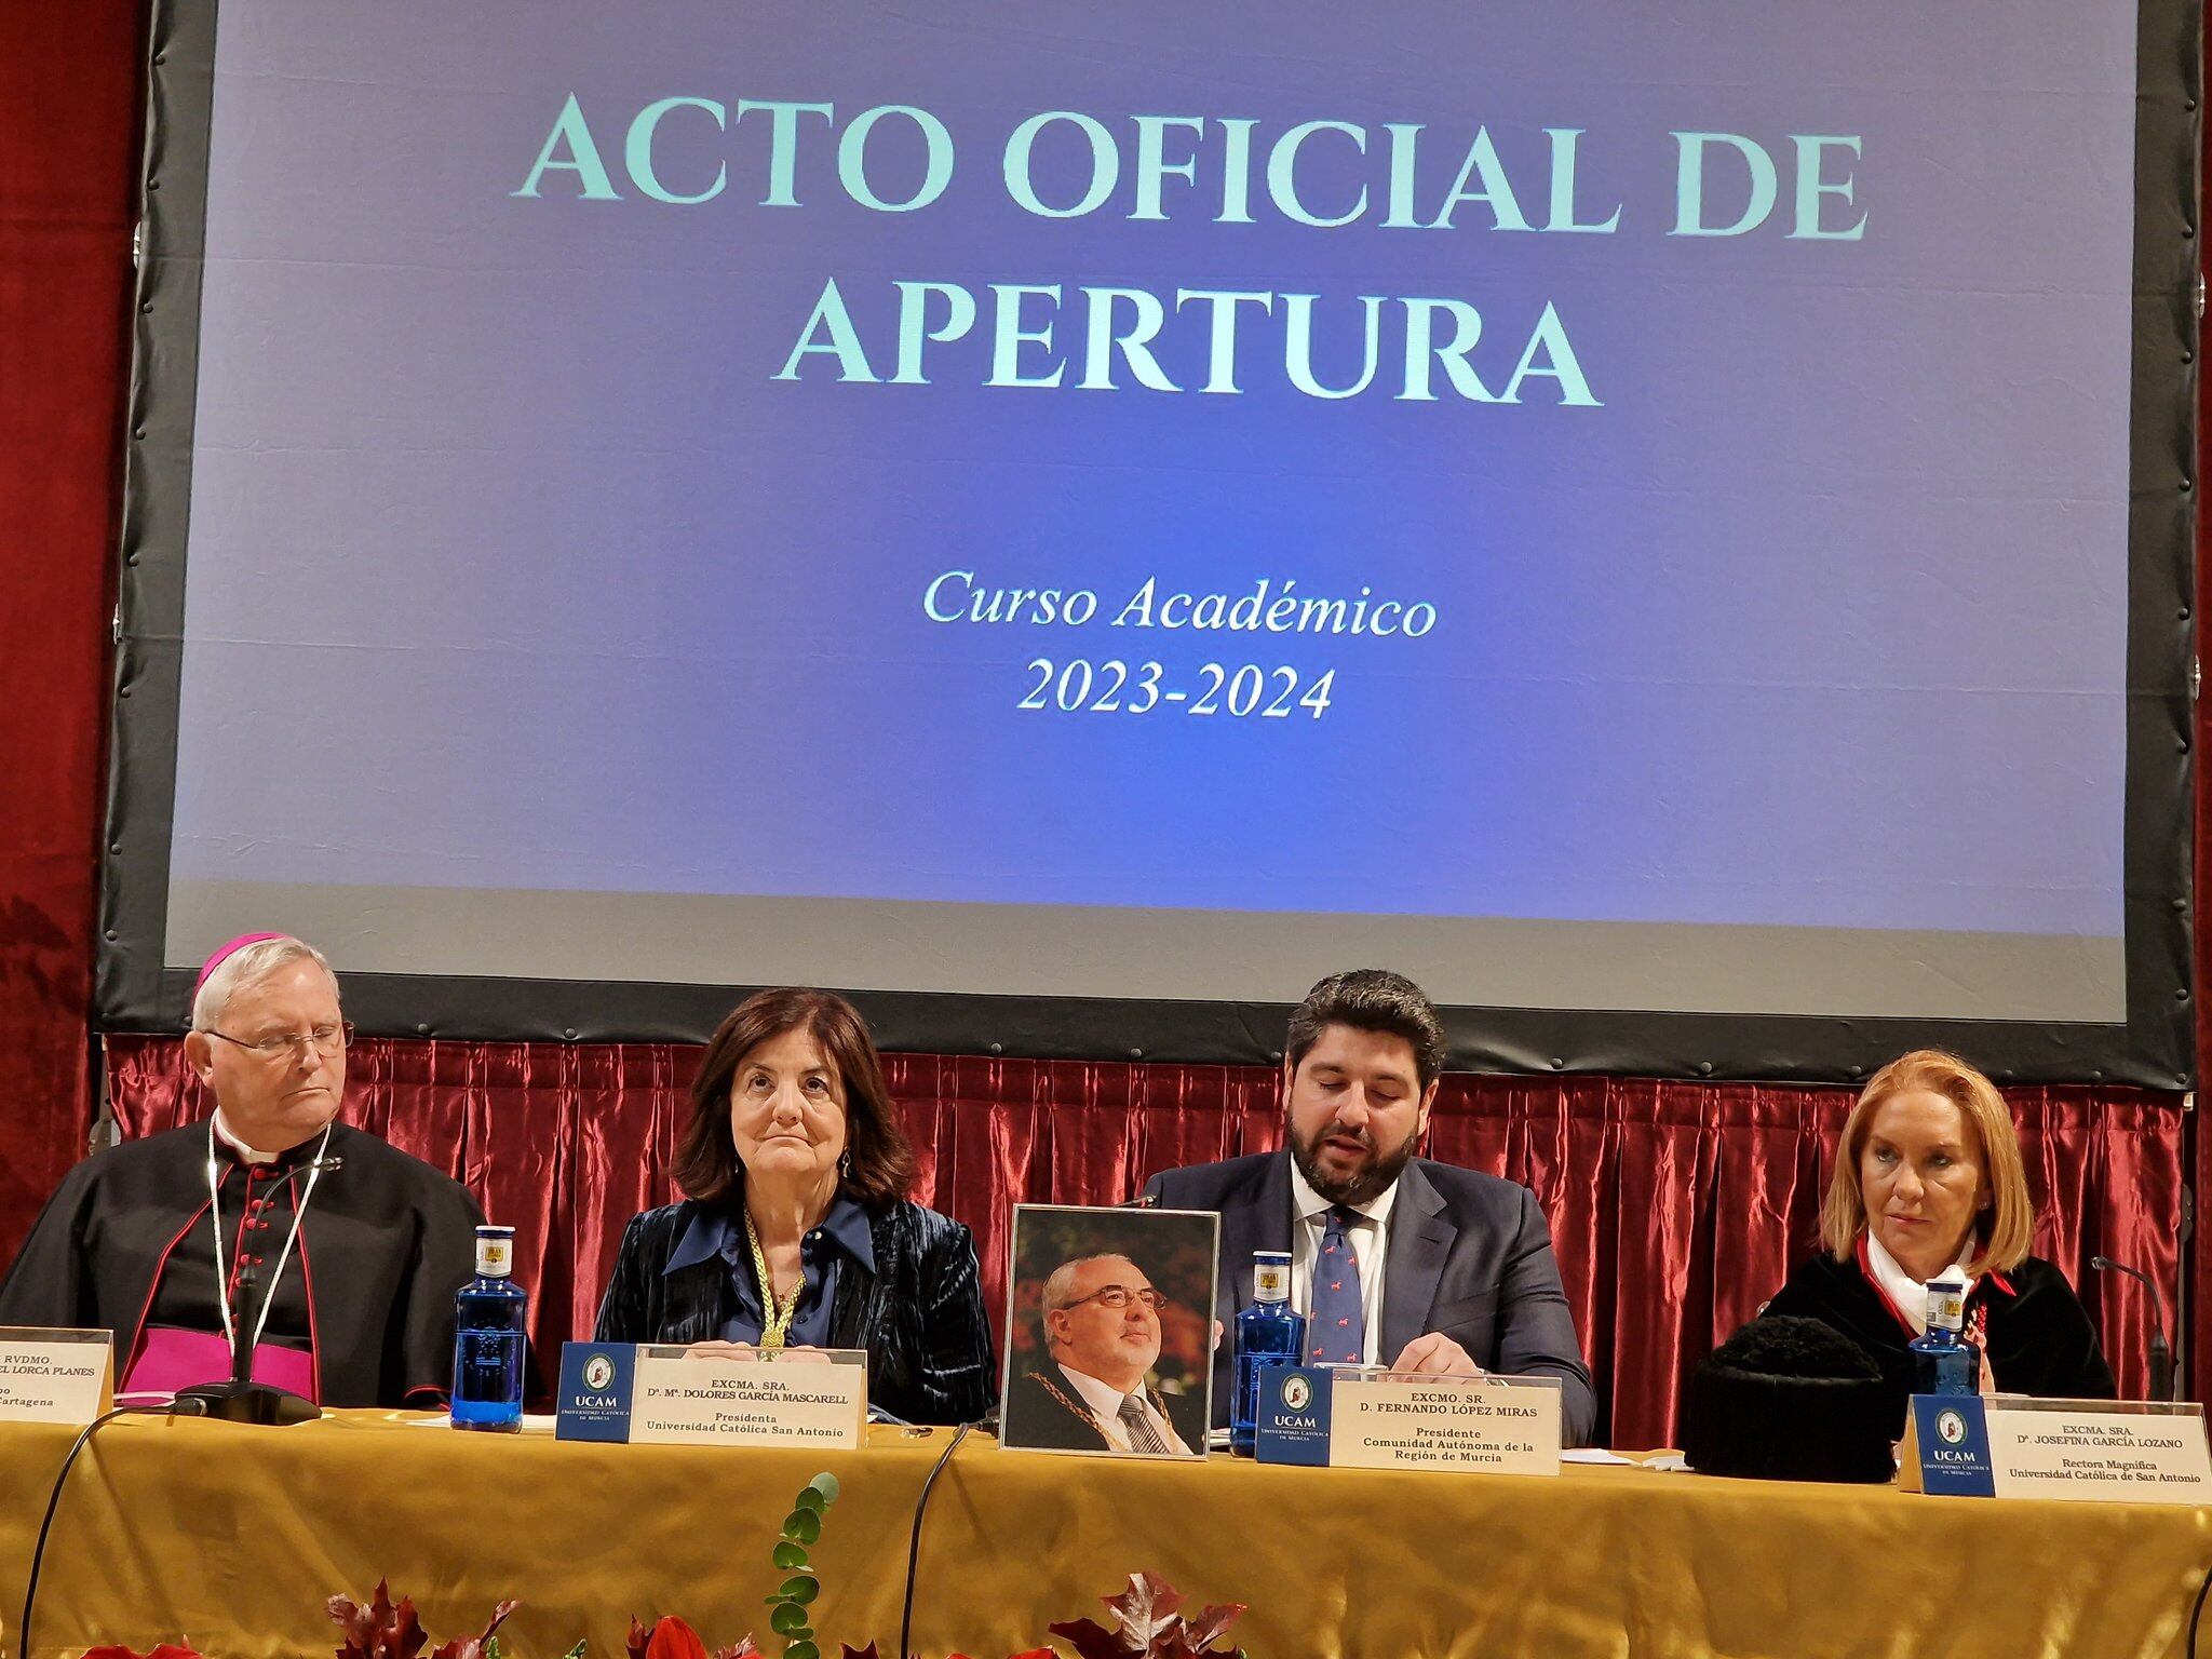
<instances>
[{"instance_id":1,"label":"seated woman with dark brown hair and dark velvet jacket","mask_svg":"<svg viewBox=\"0 0 2212 1659\"><path fill-rule=\"evenodd\" d=\"M989 1411L975 1243L907 1201L914 1152L849 1002L761 991L721 1022L675 1179L690 1197L633 1217L622 1237L597 1340L860 1347L867 1398L894 1418Z\"/></svg>"}]
</instances>

